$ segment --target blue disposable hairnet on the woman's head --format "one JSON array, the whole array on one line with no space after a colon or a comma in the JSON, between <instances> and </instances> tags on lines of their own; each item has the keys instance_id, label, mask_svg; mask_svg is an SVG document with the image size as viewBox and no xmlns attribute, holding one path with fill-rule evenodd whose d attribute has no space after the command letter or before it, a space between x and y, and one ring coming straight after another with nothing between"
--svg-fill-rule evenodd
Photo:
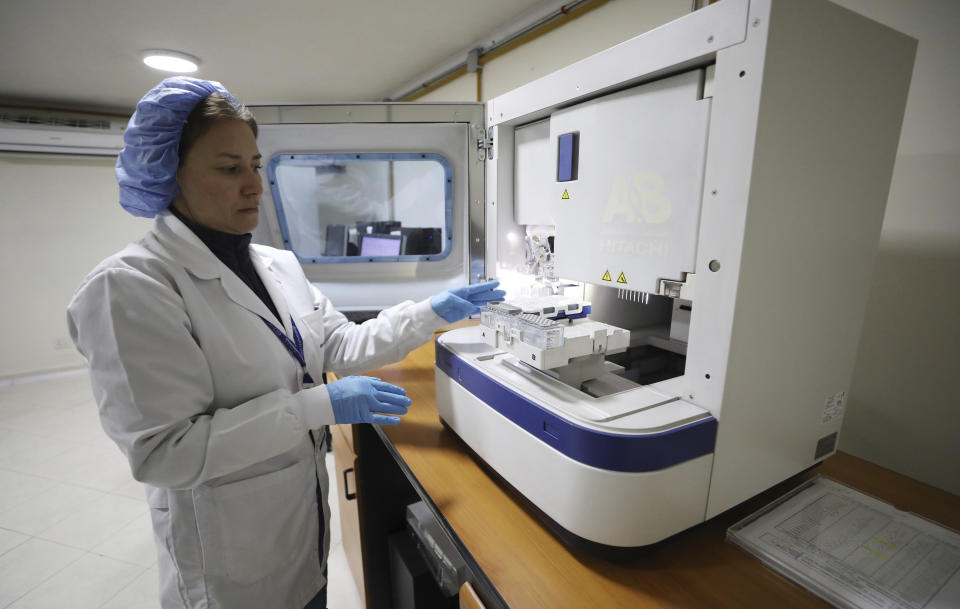
<instances>
[{"instance_id":1,"label":"blue disposable hairnet on the woman's head","mask_svg":"<svg viewBox=\"0 0 960 609\"><path fill-rule=\"evenodd\" d=\"M211 93L222 93L236 102L218 82L173 76L150 89L137 104L117 158L120 205L125 210L152 218L180 192L180 134L190 112Z\"/></svg>"}]
</instances>

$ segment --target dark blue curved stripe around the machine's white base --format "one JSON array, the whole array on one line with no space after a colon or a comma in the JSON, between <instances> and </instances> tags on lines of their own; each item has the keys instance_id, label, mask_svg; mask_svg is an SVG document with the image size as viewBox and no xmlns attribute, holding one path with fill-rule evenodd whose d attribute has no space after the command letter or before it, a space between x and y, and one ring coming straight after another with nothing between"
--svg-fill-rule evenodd
<instances>
[{"instance_id":1,"label":"dark blue curved stripe around the machine's white base","mask_svg":"<svg viewBox=\"0 0 960 609\"><path fill-rule=\"evenodd\" d=\"M576 425L504 387L435 341L437 366L464 389L540 441L575 461L620 472L652 472L713 452L713 417L643 435L614 434Z\"/></svg>"}]
</instances>

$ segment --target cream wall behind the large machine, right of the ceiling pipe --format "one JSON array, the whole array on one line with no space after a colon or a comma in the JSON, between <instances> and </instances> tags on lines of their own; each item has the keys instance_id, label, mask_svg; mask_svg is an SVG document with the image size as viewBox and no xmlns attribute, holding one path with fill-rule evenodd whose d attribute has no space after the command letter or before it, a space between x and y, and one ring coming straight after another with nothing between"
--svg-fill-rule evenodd
<instances>
[{"instance_id":1,"label":"cream wall behind the large machine, right of the ceiling pipe","mask_svg":"<svg viewBox=\"0 0 960 609\"><path fill-rule=\"evenodd\" d=\"M840 449L960 493L960 2L836 2L920 41ZM612 0L487 64L484 97L689 8ZM429 99L472 101L473 78Z\"/></svg>"}]
</instances>

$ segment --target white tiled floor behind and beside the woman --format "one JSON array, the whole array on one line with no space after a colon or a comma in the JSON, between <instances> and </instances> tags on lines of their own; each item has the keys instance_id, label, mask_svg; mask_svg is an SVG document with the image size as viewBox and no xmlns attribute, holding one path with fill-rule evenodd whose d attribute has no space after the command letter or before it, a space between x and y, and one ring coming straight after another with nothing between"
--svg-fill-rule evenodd
<instances>
[{"instance_id":1,"label":"white tiled floor behind and beside the woman","mask_svg":"<svg viewBox=\"0 0 960 609\"><path fill-rule=\"evenodd\" d=\"M332 455L327 469L336 497ZM330 507L328 606L359 609ZM156 562L143 489L87 375L0 385L0 608L159 609Z\"/></svg>"}]
</instances>

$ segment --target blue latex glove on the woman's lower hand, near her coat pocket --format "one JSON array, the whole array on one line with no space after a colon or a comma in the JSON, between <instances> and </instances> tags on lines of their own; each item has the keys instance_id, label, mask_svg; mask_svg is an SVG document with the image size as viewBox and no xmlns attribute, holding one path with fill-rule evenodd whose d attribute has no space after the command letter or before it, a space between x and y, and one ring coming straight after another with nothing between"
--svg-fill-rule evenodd
<instances>
[{"instance_id":1,"label":"blue latex glove on the woman's lower hand, near her coat pocket","mask_svg":"<svg viewBox=\"0 0 960 609\"><path fill-rule=\"evenodd\" d=\"M410 398L403 387L391 385L372 376L348 376L327 385L333 418L337 423L377 423L396 425L407 414Z\"/></svg>"}]
</instances>

